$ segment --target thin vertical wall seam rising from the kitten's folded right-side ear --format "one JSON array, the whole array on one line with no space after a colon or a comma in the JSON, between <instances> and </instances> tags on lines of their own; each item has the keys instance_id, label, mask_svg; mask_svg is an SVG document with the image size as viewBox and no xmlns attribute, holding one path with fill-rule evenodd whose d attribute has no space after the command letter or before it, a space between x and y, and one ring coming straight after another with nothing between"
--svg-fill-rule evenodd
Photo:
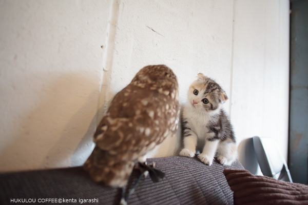
<instances>
[{"instance_id":1,"label":"thin vertical wall seam rising from the kitten's folded right-side ear","mask_svg":"<svg viewBox=\"0 0 308 205\"><path fill-rule=\"evenodd\" d=\"M232 42L231 42L231 65L230 65L230 93L229 93L229 116L232 114L232 97L233 97L233 63L234 63L234 26L235 26L235 4L233 1L233 16L232 16Z\"/></svg>"}]
</instances>

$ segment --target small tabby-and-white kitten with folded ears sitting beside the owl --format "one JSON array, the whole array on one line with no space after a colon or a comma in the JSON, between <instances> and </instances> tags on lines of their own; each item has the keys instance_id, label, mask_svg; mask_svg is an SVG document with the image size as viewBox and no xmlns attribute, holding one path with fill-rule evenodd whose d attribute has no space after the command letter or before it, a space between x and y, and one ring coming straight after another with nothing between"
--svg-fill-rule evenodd
<instances>
[{"instance_id":1,"label":"small tabby-and-white kitten with folded ears sitting beside the owl","mask_svg":"<svg viewBox=\"0 0 308 205\"><path fill-rule=\"evenodd\" d=\"M228 99L225 91L202 73L189 87L188 102L182 115L184 148L180 155L198 158L211 165L216 155L222 165L231 165L237 157L232 125L222 108Z\"/></svg>"}]
</instances>

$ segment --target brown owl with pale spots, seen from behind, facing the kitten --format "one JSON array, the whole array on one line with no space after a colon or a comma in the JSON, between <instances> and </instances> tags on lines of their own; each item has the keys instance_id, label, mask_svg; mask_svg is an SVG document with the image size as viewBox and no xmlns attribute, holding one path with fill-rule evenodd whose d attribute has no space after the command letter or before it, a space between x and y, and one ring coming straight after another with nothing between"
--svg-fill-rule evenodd
<instances>
[{"instance_id":1,"label":"brown owl with pale spots, seen from behind, facing the kitten","mask_svg":"<svg viewBox=\"0 0 308 205\"><path fill-rule=\"evenodd\" d=\"M142 68L112 99L84 163L94 181L124 187L134 165L178 129L178 81L165 65Z\"/></svg>"}]
</instances>

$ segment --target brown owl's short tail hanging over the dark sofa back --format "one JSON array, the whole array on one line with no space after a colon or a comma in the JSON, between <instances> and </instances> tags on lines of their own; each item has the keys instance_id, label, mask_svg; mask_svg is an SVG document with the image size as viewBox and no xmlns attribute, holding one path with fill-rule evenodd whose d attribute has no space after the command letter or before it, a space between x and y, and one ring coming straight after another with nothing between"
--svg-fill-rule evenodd
<instances>
[{"instance_id":1,"label":"brown owl's short tail hanging over the dark sofa back","mask_svg":"<svg viewBox=\"0 0 308 205\"><path fill-rule=\"evenodd\" d=\"M132 161L119 161L117 155L110 155L108 151L99 147L94 148L83 165L93 181L103 181L105 185L112 187L124 187L133 166Z\"/></svg>"}]
</instances>

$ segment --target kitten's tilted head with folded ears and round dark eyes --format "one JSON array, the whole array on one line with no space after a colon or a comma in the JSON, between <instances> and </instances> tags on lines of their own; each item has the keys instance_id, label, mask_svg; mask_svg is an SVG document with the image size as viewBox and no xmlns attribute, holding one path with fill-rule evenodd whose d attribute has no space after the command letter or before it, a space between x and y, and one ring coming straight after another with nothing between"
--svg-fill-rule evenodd
<instances>
[{"instance_id":1,"label":"kitten's tilted head with folded ears and round dark eyes","mask_svg":"<svg viewBox=\"0 0 308 205\"><path fill-rule=\"evenodd\" d=\"M211 112L220 108L228 99L225 91L215 80L198 73L188 90L188 102L192 108Z\"/></svg>"}]
</instances>

